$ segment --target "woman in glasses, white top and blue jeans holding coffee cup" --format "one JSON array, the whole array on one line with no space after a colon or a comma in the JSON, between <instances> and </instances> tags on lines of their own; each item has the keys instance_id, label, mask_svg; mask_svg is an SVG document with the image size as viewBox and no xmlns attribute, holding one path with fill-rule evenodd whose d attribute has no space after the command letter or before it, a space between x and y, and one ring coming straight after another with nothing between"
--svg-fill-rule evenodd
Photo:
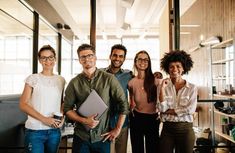
<instances>
[{"instance_id":1,"label":"woman in glasses, white top and blue jeans holding coffee cup","mask_svg":"<svg viewBox=\"0 0 235 153\"><path fill-rule=\"evenodd\" d=\"M56 153L64 119L55 119L53 114L62 114L65 79L53 73L56 53L50 45L39 50L38 58L42 72L26 78L19 104L20 109L28 115L25 123L25 151Z\"/></svg>"}]
</instances>

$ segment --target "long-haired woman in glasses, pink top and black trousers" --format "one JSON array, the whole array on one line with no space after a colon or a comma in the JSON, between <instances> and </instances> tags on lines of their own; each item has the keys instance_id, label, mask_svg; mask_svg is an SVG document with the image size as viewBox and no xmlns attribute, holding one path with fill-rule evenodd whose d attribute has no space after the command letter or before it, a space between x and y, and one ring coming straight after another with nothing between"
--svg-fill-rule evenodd
<instances>
[{"instance_id":1,"label":"long-haired woman in glasses, pink top and black trousers","mask_svg":"<svg viewBox=\"0 0 235 153\"><path fill-rule=\"evenodd\" d=\"M144 50L134 58L134 74L128 83L132 153L157 153L160 124L156 112L158 84L149 54Z\"/></svg>"}]
</instances>

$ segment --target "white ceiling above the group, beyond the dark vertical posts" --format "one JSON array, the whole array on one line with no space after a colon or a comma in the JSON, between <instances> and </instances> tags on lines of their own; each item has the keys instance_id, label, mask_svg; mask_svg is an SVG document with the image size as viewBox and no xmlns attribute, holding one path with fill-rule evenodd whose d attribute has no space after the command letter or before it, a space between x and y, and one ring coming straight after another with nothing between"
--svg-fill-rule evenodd
<instances>
[{"instance_id":1,"label":"white ceiling above the group, beyond the dark vertical posts","mask_svg":"<svg viewBox=\"0 0 235 153\"><path fill-rule=\"evenodd\" d=\"M196 0L180 0L181 15ZM48 0L77 37L90 33L90 0ZM154 36L167 0L96 0L96 34L106 36Z\"/></svg>"}]
</instances>

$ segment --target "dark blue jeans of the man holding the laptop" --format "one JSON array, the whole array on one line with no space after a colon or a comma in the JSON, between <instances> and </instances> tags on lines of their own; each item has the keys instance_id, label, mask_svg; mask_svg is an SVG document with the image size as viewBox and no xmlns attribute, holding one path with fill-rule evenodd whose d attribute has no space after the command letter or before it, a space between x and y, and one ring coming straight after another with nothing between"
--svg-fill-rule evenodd
<instances>
[{"instance_id":1,"label":"dark blue jeans of the man holding the laptop","mask_svg":"<svg viewBox=\"0 0 235 153\"><path fill-rule=\"evenodd\" d=\"M72 153L110 153L110 141L91 143L74 135Z\"/></svg>"}]
</instances>

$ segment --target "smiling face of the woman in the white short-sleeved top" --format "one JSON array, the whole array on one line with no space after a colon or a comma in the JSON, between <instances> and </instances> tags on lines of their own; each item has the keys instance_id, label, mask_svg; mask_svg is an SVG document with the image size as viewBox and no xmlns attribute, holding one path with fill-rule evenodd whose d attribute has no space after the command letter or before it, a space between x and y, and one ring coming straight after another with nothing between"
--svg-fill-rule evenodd
<instances>
[{"instance_id":1,"label":"smiling face of the woman in the white short-sleeved top","mask_svg":"<svg viewBox=\"0 0 235 153\"><path fill-rule=\"evenodd\" d=\"M43 69L52 70L55 66L55 55L50 50L40 52L39 62L42 64Z\"/></svg>"}]
</instances>

